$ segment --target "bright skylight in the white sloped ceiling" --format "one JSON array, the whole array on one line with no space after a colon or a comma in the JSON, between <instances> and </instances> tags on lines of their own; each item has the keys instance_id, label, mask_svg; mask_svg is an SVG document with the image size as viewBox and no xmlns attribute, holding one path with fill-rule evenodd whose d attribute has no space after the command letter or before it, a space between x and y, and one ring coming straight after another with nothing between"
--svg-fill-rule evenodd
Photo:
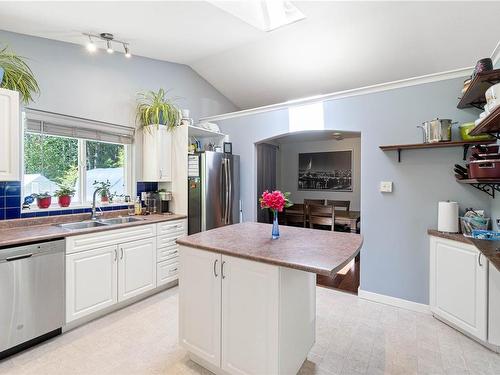
<instances>
[{"instance_id":1,"label":"bright skylight in the white sloped ceiling","mask_svg":"<svg viewBox=\"0 0 500 375\"><path fill-rule=\"evenodd\" d=\"M208 0L208 2L262 31L276 30L279 27L289 25L306 18L305 15L290 1Z\"/></svg>"}]
</instances>

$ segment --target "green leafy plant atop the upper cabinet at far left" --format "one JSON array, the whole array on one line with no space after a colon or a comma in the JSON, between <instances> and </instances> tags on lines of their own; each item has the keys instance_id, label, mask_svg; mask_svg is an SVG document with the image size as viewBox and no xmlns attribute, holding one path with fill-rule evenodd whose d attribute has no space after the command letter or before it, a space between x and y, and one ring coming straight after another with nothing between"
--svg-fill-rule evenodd
<instances>
[{"instance_id":1,"label":"green leafy plant atop the upper cabinet at far left","mask_svg":"<svg viewBox=\"0 0 500 375\"><path fill-rule=\"evenodd\" d=\"M18 91L25 105L33 101L33 94L40 94L38 82L31 68L23 57L10 51L8 47L0 49L0 68L4 70L0 87Z\"/></svg>"}]
</instances>

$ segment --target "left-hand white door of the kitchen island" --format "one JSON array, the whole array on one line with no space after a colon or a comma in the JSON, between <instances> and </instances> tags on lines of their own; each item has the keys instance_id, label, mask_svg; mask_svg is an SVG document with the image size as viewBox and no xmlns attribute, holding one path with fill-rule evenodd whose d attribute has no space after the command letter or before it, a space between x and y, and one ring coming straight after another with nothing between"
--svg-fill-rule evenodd
<instances>
[{"instance_id":1,"label":"left-hand white door of the kitchen island","mask_svg":"<svg viewBox=\"0 0 500 375\"><path fill-rule=\"evenodd\" d=\"M179 247L179 343L220 367L221 255Z\"/></svg>"}]
</instances>

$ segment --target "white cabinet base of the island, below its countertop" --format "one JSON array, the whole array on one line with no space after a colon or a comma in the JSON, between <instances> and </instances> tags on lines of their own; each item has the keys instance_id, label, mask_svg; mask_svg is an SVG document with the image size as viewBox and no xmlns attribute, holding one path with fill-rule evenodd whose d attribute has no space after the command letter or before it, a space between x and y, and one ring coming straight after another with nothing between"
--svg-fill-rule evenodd
<instances>
[{"instance_id":1,"label":"white cabinet base of the island, below its countertop","mask_svg":"<svg viewBox=\"0 0 500 375\"><path fill-rule=\"evenodd\" d=\"M296 374L315 339L316 275L179 248L179 342L216 374Z\"/></svg>"}]
</instances>

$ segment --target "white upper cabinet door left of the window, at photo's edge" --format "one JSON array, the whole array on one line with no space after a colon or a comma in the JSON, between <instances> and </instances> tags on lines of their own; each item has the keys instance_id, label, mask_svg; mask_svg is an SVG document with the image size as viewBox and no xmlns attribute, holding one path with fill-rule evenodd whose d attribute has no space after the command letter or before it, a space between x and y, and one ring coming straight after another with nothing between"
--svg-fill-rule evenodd
<instances>
[{"instance_id":1,"label":"white upper cabinet door left of the window, at photo's edge","mask_svg":"<svg viewBox=\"0 0 500 375\"><path fill-rule=\"evenodd\" d=\"M0 89L0 181L20 181L19 93Z\"/></svg>"}]
</instances>

